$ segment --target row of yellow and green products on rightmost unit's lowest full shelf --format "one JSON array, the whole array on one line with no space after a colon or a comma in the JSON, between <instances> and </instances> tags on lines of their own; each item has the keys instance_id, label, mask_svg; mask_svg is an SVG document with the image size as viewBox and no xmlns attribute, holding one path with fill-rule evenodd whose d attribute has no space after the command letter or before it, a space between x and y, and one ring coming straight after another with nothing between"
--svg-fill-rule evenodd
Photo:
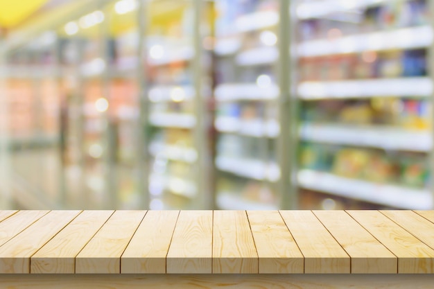
<instances>
[{"instance_id":1,"label":"row of yellow and green products on rightmost unit's lowest full shelf","mask_svg":"<svg viewBox=\"0 0 434 289\"><path fill-rule=\"evenodd\" d=\"M406 187L428 186L428 162L420 153L384 152L320 143L303 143L300 151L303 169L324 171L350 179Z\"/></svg>"}]
</instances>

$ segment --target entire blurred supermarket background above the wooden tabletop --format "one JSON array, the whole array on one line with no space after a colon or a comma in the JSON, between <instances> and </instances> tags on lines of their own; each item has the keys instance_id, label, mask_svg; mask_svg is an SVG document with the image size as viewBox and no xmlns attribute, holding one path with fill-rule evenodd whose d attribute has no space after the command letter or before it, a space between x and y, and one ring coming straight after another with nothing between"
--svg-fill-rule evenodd
<instances>
[{"instance_id":1,"label":"entire blurred supermarket background above the wooden tabletop","mask_svg":"<svg viewBox=\"0 0 434 289\"><path fill-rule=\"evenodd\" d=\"M0 0L0 209L434 209L431 0Z\"/></svg>"}]
</instances>

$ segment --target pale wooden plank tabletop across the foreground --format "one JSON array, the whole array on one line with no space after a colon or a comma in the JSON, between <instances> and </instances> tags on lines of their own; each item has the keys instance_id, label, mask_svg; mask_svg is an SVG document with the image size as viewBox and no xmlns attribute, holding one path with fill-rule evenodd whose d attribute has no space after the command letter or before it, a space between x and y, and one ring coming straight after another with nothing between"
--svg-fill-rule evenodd
<instances>
[{"instance_id":1,"label":"pale wooden plank tabletop across the foreground","mask_svg":"<svg viewBox=\"0 0 434 289\"><path fill-rule=\"evenodd\" d=\"M0 211L0 273L434 272L434 211Z\"/></svg>"}]
</instances>

